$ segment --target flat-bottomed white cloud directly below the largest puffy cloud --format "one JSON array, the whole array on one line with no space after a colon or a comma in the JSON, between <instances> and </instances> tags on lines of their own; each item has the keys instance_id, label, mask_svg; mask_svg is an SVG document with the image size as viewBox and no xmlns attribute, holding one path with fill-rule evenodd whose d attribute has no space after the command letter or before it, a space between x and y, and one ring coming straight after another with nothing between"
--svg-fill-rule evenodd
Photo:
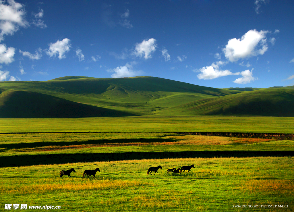
<instances>
[{"instance_id":1,"label":"flat-bottomed white cloud directly below the largest puffy cloud","mask_svg":"<svg viewBox=\"0 0 294 212\"><path fill-rule=\"evenodd\" d=\"M240 72L232 73L229 70L221 70L220 66L225 65L225 62L218 61L216 63L211 64L211 66L206 66L201 69L196 69L194 72L201 72L197 75L198 79L216 79L221 76L228 75L239 75Z\"/></svg>"}]
</instances>

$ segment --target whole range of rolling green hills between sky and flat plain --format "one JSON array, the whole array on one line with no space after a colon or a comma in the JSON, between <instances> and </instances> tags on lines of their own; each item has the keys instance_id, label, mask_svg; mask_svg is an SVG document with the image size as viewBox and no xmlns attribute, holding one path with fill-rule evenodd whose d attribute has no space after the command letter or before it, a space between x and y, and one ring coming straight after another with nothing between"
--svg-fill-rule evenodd
<instances>
[{"instance_id":1,"label":"whole range of rolling green hills between sky and flat plain","mask_svg":"<svg viewBox=\"0 0 294 212\"><path fill-rule=\"evenodd\" d=\"M8 81L0 82L0 117L293 116L293 91L290 88L216 89L147 76L66 76L49 81Z\"/></svg>"}]
</instances>

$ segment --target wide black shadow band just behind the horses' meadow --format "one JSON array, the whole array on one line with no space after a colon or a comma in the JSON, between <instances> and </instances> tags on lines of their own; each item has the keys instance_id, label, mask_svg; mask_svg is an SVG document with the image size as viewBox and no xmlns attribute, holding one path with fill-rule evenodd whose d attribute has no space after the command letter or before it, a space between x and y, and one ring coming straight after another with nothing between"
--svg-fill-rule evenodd
<instances>
[{"instance_id":1,"label":"wide black shadow band just behind the horses' meadow","mask_svg":"<svg viewBox=\"0 0 294 212\"><path fill-rule=\"evenodd\" d=\"M294 151L182 151L182 152L124 152L124 153L75 153L2 156L0 167L32 166L96 161L121 161L161 158L213 158L213 157L283 157L294 156Z\"/></svg>"}]
</instances>

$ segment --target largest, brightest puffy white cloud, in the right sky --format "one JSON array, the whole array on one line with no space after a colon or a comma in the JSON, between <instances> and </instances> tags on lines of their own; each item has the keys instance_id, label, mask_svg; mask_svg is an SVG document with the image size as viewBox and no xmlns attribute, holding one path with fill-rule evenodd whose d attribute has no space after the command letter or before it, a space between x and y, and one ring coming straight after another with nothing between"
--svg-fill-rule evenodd
<instances>
[{"instance_id":1,"label":"largest, brightest puffy white cloud, in the right sky","mask_svg":"<svg viewBox=\"0 0 294 212\"><path fill-rule=\"evenodd\" d=\"M268 33L268 31L261 30L258 32L254 29L246 32L241 39L230 39L223 49L225 57L229 61L235 62L239 59L257 56L258 54L263 55L265 51L268 50L265 38L266 33ZM258 49L257 47L260 48Z\"/></svg>"}]
</instances>

